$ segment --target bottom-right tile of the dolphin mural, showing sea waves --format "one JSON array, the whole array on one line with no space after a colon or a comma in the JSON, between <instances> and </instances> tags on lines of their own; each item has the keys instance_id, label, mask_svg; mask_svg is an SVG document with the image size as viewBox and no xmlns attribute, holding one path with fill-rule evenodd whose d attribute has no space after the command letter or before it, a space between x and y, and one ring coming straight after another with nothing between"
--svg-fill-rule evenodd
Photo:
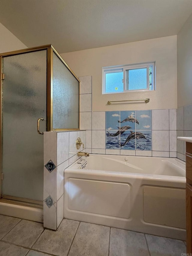
<instances>
[{"instance_id":1,"label":"bottom-right tile of the dolphin mural, showing sea waves","mask_svg":"<svg viewBox=\"0 0 192 256\"><path fill-rule=\"evenodd\" d=\"M136 131L136 150L152 150L152 131Z\"/></svg>"}]
</instances>

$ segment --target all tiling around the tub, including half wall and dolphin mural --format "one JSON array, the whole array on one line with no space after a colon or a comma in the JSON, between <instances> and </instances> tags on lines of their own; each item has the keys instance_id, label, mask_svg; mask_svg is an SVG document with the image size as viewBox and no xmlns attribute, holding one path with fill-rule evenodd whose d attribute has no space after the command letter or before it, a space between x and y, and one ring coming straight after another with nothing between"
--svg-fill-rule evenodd
<instances>
[{"instance_id":1,"label":"all tiling around the tub, including half wall and dolphin mural","mask_svg":"<svg viewBox=\"0 0 192 256\"><path fill-rule=\"evenodd\" d=\"M64 169L77 160L77 137L85 144L85 149L81 147L79 151L184 159L184 143L177 144L176 138L192 136L192 105L177 112L176 109L92 112L92 77L79 79L81 130L44 133L44 227L52 230L63 219ZM131 140L126 142L131 131Z\"/></svg>"}]
</instances>

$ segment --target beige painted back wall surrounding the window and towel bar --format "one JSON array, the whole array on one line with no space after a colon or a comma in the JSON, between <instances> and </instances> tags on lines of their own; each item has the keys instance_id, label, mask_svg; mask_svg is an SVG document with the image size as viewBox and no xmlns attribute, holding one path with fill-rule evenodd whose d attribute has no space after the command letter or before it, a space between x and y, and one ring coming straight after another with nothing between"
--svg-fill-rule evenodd
<instances>
[{"instance_id":1,"label":"beige painted back wall surrounding the window and towel bar","mask_svg":"<svg viewBox=\"0 0 192 256\"><path fill-rule=\"evenodd\" d=\"M177 36L61 54L77 76L92 75L93 111L177 108ZM156 62L156 90L102 95L102 67ZM112 104L108 100L150 98L149 103Z\"/></svg>"}]
</instances>

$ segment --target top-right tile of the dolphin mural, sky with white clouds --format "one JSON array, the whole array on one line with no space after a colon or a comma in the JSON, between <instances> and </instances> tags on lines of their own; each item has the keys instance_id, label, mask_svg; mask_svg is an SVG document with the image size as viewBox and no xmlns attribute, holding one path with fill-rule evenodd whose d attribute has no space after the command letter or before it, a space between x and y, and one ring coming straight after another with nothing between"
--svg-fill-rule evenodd
<instances>
[{"instance_id":1,"label":"top-right tile of the dolphin mural, sky with white clouds","mask_svg":"<svg viewBox=\"0 0 192 256\"><path fill-rule=\"evenodd\" d=\"M152 130L151 110L136 110L135 115L139 122L139 124L136 123L137 130Z\"/></svg>"}]
</instances>

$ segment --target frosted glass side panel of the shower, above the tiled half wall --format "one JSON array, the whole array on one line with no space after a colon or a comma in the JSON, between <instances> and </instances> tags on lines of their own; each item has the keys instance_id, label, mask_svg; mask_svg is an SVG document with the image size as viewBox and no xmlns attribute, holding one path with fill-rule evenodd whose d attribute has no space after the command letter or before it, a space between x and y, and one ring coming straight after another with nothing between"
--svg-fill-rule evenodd
<instances>
[{"instance_id":1,"label":"frosted glass side panel of the shower, above the tiled half wall","mask_svg":"<svg viewBox=\"0 0 192 256\"><path fill-rule=\"evenodd\" d=\"M53 53L53 129L79 128L79 81Z\"/></svg>"}]
</instances>

